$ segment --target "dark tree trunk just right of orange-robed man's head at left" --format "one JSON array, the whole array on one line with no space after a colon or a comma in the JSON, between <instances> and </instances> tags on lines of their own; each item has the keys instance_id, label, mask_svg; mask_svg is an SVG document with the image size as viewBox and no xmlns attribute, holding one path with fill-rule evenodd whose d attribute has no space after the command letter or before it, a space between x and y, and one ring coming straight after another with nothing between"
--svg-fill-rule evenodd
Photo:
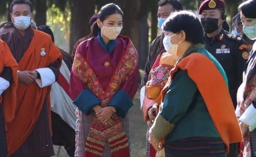
<instances>
[{"instance_id":1,"label":"dark tree trunk just right of orange-robed man's head at left","mask_svg":"<svg viewBox=\"0 0 256 157\"><path fill-rule=\"evenodd\" d=\"M35 1L35 21L37 26L46 25L46 0Z\"/></svg>"}]
</instances>

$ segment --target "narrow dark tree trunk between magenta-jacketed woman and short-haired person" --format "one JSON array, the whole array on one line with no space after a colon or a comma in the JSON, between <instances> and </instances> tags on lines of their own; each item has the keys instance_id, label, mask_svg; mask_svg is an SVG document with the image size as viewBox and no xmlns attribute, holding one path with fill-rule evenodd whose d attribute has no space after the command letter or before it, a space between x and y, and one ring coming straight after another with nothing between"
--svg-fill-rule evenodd
<instances>
[{"instance_id":1,"label":"narrow dark tree trunk between magenta-jacketed woman and short-haired person","mask_svg":"<svg viewBox=\"0 0 256 157\"><path fill-rule=\"evenodd\" d=\"M144 69L148 56L148 9L146 3L141 3L139 11L139 68Z\"/></svg>"}]
</instances>

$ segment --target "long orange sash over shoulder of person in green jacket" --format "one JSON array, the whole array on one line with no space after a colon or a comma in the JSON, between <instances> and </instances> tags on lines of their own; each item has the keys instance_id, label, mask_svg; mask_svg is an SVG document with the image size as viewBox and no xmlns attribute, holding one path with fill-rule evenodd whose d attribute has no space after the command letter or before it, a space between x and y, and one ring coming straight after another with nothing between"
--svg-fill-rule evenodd
<instances>
[{"instance_id":1,"label":"long orange sash over shoulder of person in green jacket","mask_svg":"<svg viewBox=\"0 0 256 157\"><path fill-rule=\"evenodd\" d=\"M213 124L228 152L229 144L241 142L242 134L234 112L233 102L222 74L206 55L194 52L183 58L170 72L167 85L161 92L162 100L170 86L171 78L179 69L188 71L188 76L197 84ZM218 94L216 95L216 93Z\"/></svg>"}]
</instances>

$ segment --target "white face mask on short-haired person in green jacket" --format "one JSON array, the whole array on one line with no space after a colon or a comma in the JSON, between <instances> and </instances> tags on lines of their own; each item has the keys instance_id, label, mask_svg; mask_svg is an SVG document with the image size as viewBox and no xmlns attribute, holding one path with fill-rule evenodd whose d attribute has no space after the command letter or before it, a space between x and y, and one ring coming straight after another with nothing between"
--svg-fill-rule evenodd
<instances>
[{"instance_id":1,"label":"white face mask on short-haired person in green jacket","mask_svg":"<svg viewBox=\"0 0 256 157\"><path fill-rule=\"evenodd\" d=\"M166 52L170 53L171 55L177 55L178 45L179 43L181 43L181 41L177 44L173 44L171 42L172 37L176 34L173 34L172 36L166 36L163 38L164 49L166 50Z\"/></svg>"}]
</instances>

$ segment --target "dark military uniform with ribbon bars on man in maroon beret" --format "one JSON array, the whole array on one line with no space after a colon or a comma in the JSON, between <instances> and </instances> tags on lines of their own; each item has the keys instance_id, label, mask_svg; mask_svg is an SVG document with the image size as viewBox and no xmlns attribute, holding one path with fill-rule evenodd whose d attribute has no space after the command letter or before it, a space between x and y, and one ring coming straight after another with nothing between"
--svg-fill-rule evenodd
<instances>
[{"instance_id":1,"label":"dark military uniform with ribbon bars on man in maroon beret","mask_svg":"<svg viewBox=\"0 0 256 157\"><path fill-rule=\"evenodd\" d=\"M248 46L241 37L222 30L216 37L206 36L205 48L219 61L228 77L229 92L237 105L237 89L242 83L244 65L249 58Z\"/></svg>"}]
</instances>

